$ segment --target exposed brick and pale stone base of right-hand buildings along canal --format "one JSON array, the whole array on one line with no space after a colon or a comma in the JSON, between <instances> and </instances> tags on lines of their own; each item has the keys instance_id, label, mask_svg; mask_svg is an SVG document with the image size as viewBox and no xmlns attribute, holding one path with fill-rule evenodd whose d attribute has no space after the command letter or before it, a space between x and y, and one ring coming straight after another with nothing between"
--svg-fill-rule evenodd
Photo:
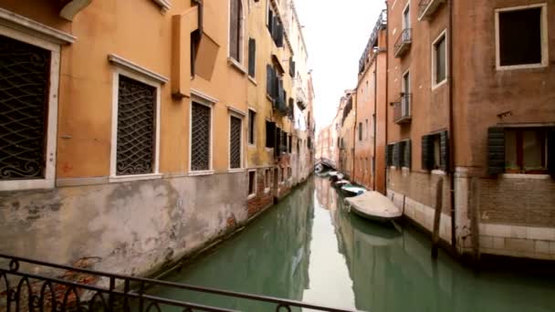
<instances>
[{"instance_id":1,"label":"exposed brick and pale stone base of right-hand buildings along canal","mask_svg":"<svg viewBox=\"0 0 555 312\"><path fill-rule=\"evenodd\" d=\"M433 202L439 179L444 179L440 238L451 244L448 176L440 172L425 174L390 168L387 195L406 217L433 232ZM497 178L479 178L472 169L457 167L457 252L555 260L553 194L555 181L548 175L503 174ZM474 228L473 224L476 224Z\"/></svg>"}]
</instances>

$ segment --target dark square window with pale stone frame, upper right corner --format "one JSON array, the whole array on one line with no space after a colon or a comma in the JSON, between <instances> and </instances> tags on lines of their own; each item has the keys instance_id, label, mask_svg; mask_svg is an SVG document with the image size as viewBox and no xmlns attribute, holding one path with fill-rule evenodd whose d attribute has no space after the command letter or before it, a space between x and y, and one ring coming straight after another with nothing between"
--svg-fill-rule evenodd
<instances>
[{"instance_id":1,"label":"dark square window with pale stone frame, upper right corner","mask_svg":"<svg viewBox=\"0 0 555 312\"><path fill-rule=\"evenodd\" d=\"M497 69L547 66L547 32L547 4L497 9Z\"/></svg>"}]
</instances>

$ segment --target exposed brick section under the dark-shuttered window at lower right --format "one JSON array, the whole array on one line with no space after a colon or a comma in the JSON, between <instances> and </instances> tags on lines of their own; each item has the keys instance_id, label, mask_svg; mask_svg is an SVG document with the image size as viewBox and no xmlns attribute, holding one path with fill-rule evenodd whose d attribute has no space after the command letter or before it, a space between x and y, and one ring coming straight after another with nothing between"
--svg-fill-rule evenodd
<instances>
[{"instance_id":1,"label":"exposed brick section under the dark-shuttered window at lower right","mask_svg":"<svg viewBox=\"0 0 555 312\"><path fill-rule=\"evenodd\" d=\"M499 177L481 179L480 221L487 224L554 226L555 181Z\"/></svg>"}]
</instances>

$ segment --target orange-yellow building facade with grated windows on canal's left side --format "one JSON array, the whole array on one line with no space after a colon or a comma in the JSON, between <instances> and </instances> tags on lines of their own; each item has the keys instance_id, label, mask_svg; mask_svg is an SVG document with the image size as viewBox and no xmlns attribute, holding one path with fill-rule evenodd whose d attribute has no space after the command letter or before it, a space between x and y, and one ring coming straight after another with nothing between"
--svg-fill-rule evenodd
<instances>
[{"instance_id":1,"label":"orange-yellow building facade with grated windows on canal's left side","mask_svg":"<svg viewBox=\"0 0 555 312\"><path fill-rule=\"evenodd\" d=\"M0 87L0 248L64 264L98 255L95 268L146 275L246 224L257 180L269 203L287 193L290 151L266 142L267 122L293 132L278 101L293 94L293 53L279 17L268 31L274 6L3 1L2 68L37 88L0 71L11 86Z\"/></svg>"}]
</instances>

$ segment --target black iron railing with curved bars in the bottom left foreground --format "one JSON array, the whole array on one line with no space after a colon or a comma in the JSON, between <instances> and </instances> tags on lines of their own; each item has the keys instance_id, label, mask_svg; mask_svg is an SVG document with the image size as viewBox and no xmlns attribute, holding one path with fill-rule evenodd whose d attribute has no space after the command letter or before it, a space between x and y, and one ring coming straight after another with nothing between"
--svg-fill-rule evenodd
<instances>
[{"instance_id":1,"label":"black iron railing with curved bars in the bottom left foreground","mask_svg":"<svg viewBox=\"0 0 555 312\"><path fill-rule=\"evenodd\" d=\"M151 287L193 291L230 299L241 298L273 305L275 311L291 311L294 307L319 311L348 311L272 296L257 296L149 278L122 276L0 254L0 311L160 312L167 307L178 308L183 312L234 311L223 307L210 307L153 296L147 292Z\"/></svg>"}]
</instances>

